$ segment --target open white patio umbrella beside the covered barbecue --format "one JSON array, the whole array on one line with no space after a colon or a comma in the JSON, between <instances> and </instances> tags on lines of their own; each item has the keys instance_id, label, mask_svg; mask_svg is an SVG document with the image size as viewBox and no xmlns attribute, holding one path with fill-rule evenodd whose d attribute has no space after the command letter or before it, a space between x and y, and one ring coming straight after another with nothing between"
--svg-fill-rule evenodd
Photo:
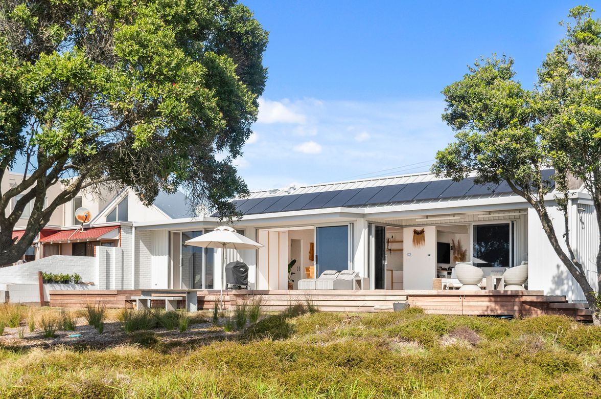
<instances>
[{"instance_id":1,"label":"open white patio umbrella beside the covered barbecue","mask_svg":"<svg viewBox=\"0 0 601 399\"><path fill-rule=\"evenodd\" d=\"M203 248L221 248L221 291L219 291L219 306L223 303L224 274L225 274L225 250L226 249L260 249L263 244L252 241L242 234L238 234L230 226L219 226L212 232L200 235L184 244Z\"/></svg>"}]
</instances>

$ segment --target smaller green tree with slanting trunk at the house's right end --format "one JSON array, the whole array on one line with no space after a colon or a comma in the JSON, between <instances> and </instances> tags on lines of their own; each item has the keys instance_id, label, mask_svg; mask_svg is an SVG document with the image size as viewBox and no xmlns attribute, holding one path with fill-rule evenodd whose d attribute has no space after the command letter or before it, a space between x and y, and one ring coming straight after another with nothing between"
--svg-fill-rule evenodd
<instances>
[{"instance_id":1,"label":"smaller green tree with slanting trunk at the house's right end","mask_svg":"<svg viewBox=\"0 0 601 399\"><path fill-rule=\"evenodd\" d=\"M481 184L507 181L534 208L558 258L598 312L601 241L591 265L573 249L568 229L570 190L584 184L601 231L601 20L593 12L570 10L572 21L561 22L566 36L538 69L533 90L514 79L511 58L494 57L446 87L442 117L458 132L433 170L453 179L475 173ZM547 167L555 169L553 194L541 173ZM548 214L551 196L564 214L561 229ZM596 270L596 281L587 279L587 268Z\"/></svg>"}]
</instances>

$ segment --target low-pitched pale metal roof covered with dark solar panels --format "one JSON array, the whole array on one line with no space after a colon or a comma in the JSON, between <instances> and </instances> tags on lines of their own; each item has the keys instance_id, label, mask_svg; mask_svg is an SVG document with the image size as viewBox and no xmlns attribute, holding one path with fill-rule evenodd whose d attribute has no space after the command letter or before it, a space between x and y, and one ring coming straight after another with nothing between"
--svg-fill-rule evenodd
<instances>
[{"instance_id":1,"label":"low-pitched pale metal roof covered with dark solar panels","mask_svg":"<svg viewBox=\"0 0 601 399\"><path fill-rule=\"evenodd\" d=\"M543 170L549 179L554 170ZM552 187L555 182L549 181ZM511 195L507 184L480 185L474 178L459 182L437 179L431 173L392 176L380 179L319 184L298 188L289 193L260 191L248 199L235 200L236 210L245 215L303 211L334 207L365 208L395 203L453 200L474 196Z\"/></svg>"}]
</instances>

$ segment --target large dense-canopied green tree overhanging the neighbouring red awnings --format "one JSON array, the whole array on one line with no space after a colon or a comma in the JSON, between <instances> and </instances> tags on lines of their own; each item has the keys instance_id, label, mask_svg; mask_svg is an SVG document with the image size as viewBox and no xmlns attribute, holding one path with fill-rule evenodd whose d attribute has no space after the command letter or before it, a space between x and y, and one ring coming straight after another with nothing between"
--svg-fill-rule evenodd
<instances>
[{"instance_id":1,"label":"large dense-canopied green tree overhanging the neighbouring red awnings","mask_svg":"<svg viewBox=\"0 0 601 399\"><path fill-rule=\"evenodd\" d=\"M0 265L102 184L146 204L183 188L190 206L232 217L228 199L248 190L231 162L257 117L266 45L236 0L2 0L0 179L27 173L0 193ZM54 184L64 190L44 203Z\"/></svg>"}]
</instances>

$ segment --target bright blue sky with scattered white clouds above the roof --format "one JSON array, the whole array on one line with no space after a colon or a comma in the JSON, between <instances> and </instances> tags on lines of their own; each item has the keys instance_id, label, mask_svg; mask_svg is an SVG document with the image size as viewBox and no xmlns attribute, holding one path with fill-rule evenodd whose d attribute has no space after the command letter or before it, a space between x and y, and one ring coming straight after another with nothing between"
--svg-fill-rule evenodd
<instances>
[{"instance_id":1,"label":"bright blue sky with scattered white clouds above the roof","mask_svg":"<svg viewBox=\"0 0 601 399\"><path fill-rule=\"evenodd\" d=\"M558 22L583 4L240 1L270 32L255 134L236 161L251 190L428 170L453 140L445 85L497 53L531 87Z\"/></svg>"}]
</instances>

